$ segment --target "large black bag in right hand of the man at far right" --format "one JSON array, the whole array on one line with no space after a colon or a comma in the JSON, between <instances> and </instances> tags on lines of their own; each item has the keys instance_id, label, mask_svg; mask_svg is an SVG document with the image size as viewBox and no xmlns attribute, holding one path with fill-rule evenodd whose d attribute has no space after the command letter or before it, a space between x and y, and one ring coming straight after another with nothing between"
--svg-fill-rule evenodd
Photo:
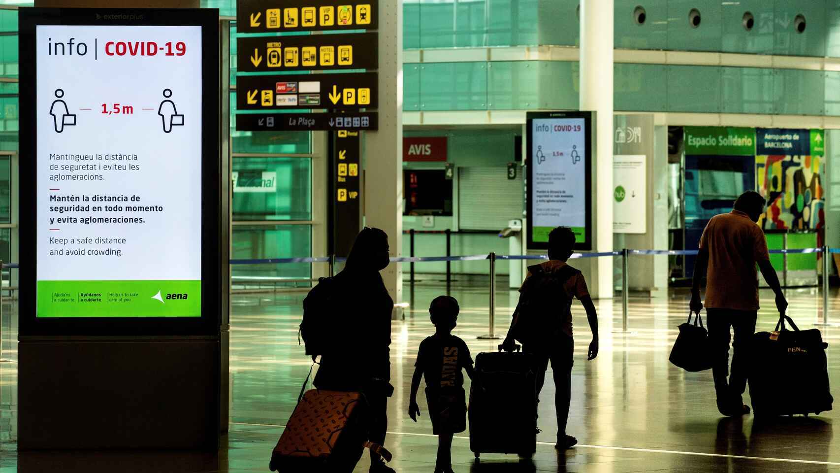
<instances>
[{"instance_id":1,"label":"large black bag in right hand of the man at far right","mask_svg":"<svg viewBox=\"0 0 840 473\"><path fill-rule=\"evenodd\" d=\"M785 328L785 320L792 330ZM827 346L818 329L800 330L786 315L774 332L755 334L748 377L755 415L808 415L832 410Z\"/></svg>"}]
</instances>

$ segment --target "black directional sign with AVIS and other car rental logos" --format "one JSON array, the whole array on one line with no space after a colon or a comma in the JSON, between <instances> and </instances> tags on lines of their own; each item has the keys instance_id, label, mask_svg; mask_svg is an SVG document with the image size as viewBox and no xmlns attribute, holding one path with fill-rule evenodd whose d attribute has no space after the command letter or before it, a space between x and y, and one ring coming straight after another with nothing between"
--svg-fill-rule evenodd
<instances>
[{"instance_id":1,"label":"black directional sign with AVIS and other car rental logos","mask_svg":"<svg viewBox=\"0 0 840 473\"><path fill-rule=\"evenodd\" d=\"M264 110L287 108L377 108L377 74L288 74L238 76L236 108Z\"/></svg>"}]
</instances>

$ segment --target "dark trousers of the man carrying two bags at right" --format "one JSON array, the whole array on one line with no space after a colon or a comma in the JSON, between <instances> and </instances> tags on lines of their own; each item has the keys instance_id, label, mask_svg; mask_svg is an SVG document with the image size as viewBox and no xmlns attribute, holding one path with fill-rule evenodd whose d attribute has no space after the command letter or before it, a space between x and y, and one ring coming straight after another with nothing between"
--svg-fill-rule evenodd
<instances>
[{"instance_id":1,"label":"dark trousers of the man carrying two bags at right","mask_svg":"<svg viewBox=\"0 0 840 473\"><path fill-rule=\"evenodd\" d=\"M711 374L715 378L718 408L741 407L743 404L756 318L755 311L706 309L706 327L709 330L712 350ZM729 340L732 330L735 332L735 339L732 340L730 375Z\"/></svg>"}]
</instances>

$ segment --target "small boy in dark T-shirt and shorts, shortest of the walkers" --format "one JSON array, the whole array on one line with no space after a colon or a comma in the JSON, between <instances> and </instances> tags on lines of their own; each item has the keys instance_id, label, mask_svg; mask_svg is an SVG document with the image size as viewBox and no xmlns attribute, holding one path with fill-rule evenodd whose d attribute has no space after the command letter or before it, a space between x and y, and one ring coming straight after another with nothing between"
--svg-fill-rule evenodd
<instances>
[{"instance_id":1,"label":"small boy in dark T-shirt and shorts, shortest of the walkers","mask_svg":"<svg viewBox=\"0 0 840 473\"><path fill-rule=\"evenodd\" d=\"M417 422L420 415L417 389L423 376L426 379L426 401L428 415L432 419L432 432L438 436L438 459L434 471L452 473L452 437L466 430L467 406L461 370L466 370L473 382L475 371L467 344L452 334L452 329L458 325L458 301L449 296L437 297L428 312L436 330L420 343L417 351L408 416Z\"/></svg>"}]
</instances>

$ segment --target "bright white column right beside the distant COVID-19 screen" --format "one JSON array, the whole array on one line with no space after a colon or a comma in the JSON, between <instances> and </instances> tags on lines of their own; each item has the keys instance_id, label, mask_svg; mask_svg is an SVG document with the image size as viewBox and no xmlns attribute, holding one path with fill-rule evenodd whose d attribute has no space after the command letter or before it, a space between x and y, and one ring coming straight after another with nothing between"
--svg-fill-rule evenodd
<instances>
[{"instance_id":1,"label":"bright white column right beside the distant COVID-19 screen","mask_svg":"<svg viewBox=\"0 0 840 473\"><path fill-rule=\"evenodd\" d=\"M596 112L593 155L596 251L612 251L613 0L580 2L580 110ZM597 258L589 281L593 297L612 297L612 258Z\"/></svg>"}]
</instances>

